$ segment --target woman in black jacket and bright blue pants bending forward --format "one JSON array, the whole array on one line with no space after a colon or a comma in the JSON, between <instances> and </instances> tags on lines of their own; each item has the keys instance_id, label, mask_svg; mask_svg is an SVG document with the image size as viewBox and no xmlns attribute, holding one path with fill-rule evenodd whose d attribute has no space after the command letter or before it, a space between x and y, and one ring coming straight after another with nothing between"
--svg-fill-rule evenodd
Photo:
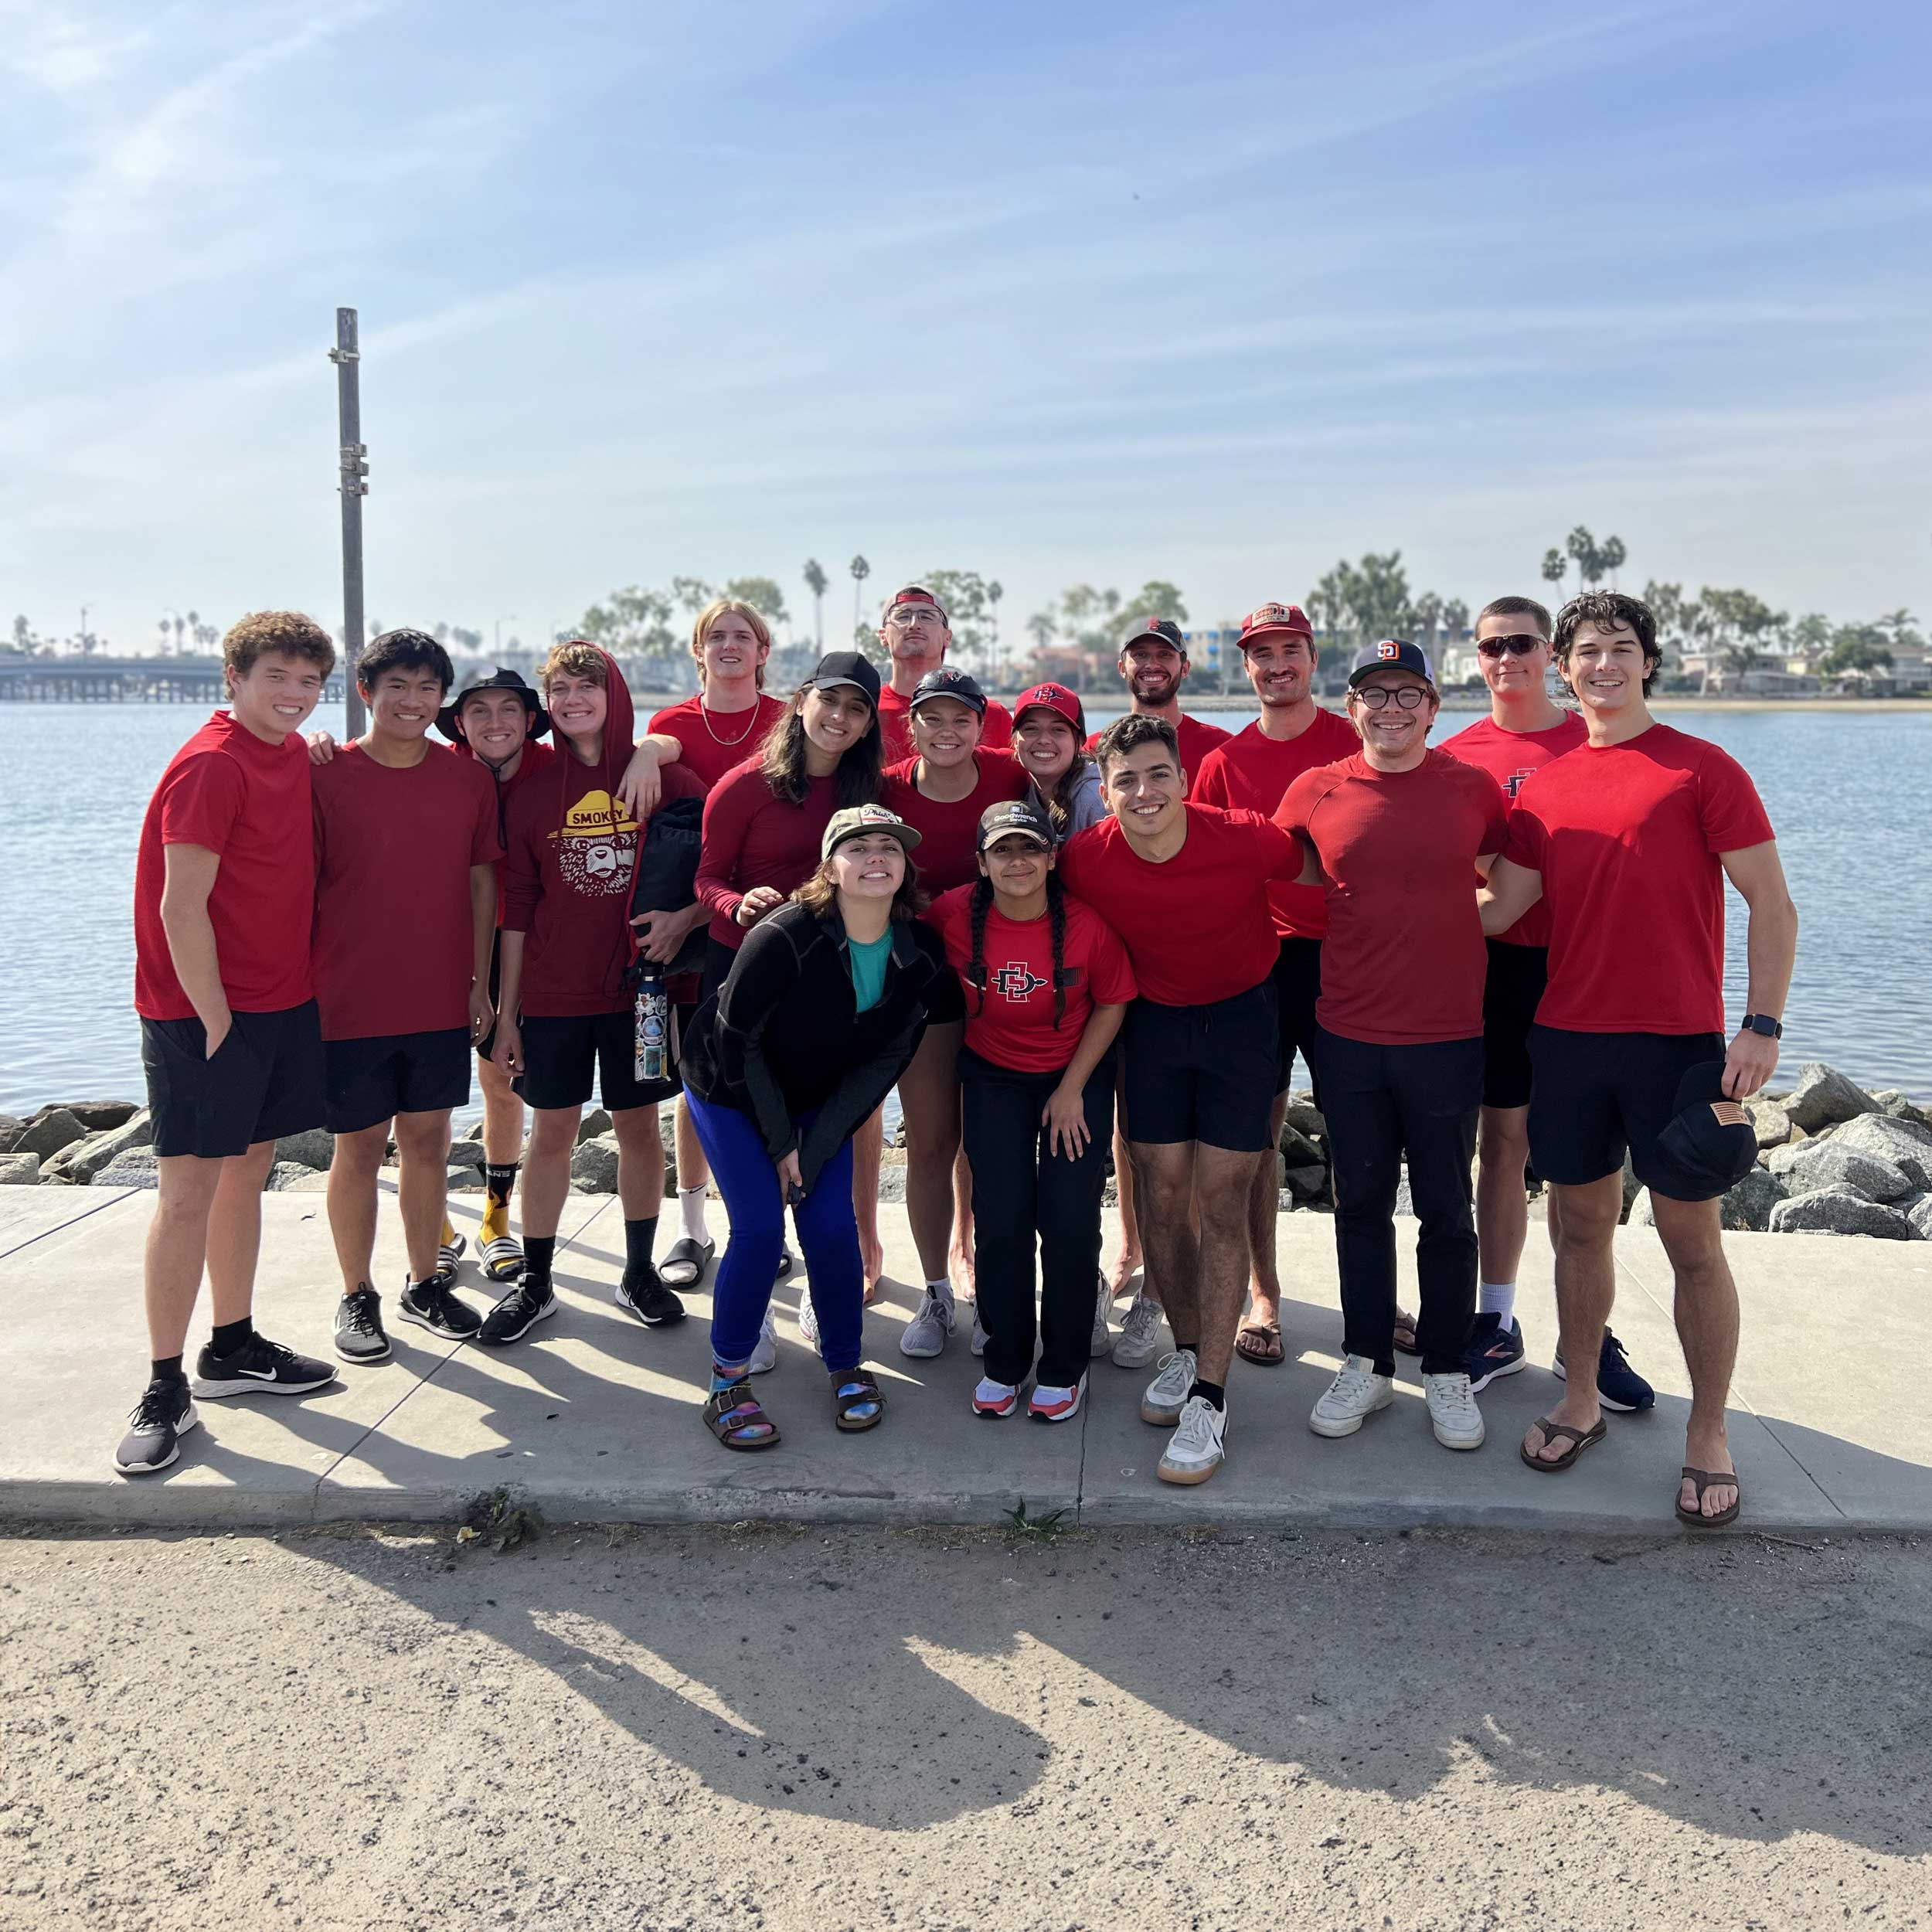
<instances>
[{"instance_id":1,"label":"woman in black jacket and bright blue pants bending forward","mask_svg":"<svg viewBox=\"0 0 1932 1932\"><path fill-rule=\"evenodd\" d=\"M711 1298L705 1426L726 1449L771 1449L748 1366L790 1206L840 1430L885 1395L860 1364L866 1279L852 1213L852 1134L904 1072L929 1020L962 1012L939 937L914 923L920 835L883 806L825 827L819 869L746 935L684 1043L692 1124L730 1213Z\"/></svg>"}]
</instances>

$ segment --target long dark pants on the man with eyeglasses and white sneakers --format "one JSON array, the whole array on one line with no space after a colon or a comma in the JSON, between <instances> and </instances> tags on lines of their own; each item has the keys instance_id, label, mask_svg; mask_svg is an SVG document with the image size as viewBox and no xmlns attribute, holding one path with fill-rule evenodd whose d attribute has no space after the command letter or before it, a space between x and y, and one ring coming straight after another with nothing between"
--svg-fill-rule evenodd
<instances>
[{"instance_id":1,"label":"long dark pants on the man with eyeglasses and white sneakers","mask_svg":"<svg viewBox=\"0 0 1932 1932\"><path fill-rule=\"evenodd\" d=\"M1321 1113L1335 1159L1335 1260L1343 1347L1395 1374L1395 1188L1422 1223L1416 1345L1424 1376L1464 1366L1476 1316L1476 1204L1470 1161L1482 1111L1482 1039L1379 1047L1321 1028Z\"/></svg>"}]
</instances>

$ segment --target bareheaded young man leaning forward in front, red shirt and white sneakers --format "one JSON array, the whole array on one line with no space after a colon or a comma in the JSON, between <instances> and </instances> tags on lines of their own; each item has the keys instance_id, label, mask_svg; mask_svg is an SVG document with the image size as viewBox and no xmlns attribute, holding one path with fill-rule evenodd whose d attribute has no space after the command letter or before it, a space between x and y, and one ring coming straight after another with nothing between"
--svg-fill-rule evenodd
<instances>
[{"instance_id":1,"label":"bareheaded young man leaning forward in front, red shirt and white sneakers","mask_svg":"<svg viewBox=\"0 0 1932 1932\"><path fill-rule=\"evenodd\" d=\"M1258 811L1188 804L1165 717L1115 719L1099 771L1113 817L1070 838L1059 869L1121 935L1140 985L1121 1030L1128 1153L1150 1283L1175 1335L1140 1416L1175 1432L1161 1480L1206 1482L1227 1453L1248 1196L1273 1150L1281 949L1267 885L1293 879L1302 850Z\"/></svg>"}]
</instances>

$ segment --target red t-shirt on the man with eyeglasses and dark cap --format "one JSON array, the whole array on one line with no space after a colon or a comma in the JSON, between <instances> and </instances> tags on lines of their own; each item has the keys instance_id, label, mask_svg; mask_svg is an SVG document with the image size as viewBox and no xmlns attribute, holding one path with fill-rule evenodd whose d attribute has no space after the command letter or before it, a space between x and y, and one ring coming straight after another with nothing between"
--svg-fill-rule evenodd
<instances>
[{"instance_id":1,"label":"red t-shirt on the man with eyeglasses and dark cap","mask_svg":"<svg viewBox=\"0 0 1932 1932\"><path fill-rule=\"evenodd\" d=\"M1414 771L1356 755L1296 779L1275 823L1329 879L1316 1020L1383 1047L1474 1039L1490 970L1476 860L1509 837L1495 779L1447 752Z\"/></svg>"}]
</instances>

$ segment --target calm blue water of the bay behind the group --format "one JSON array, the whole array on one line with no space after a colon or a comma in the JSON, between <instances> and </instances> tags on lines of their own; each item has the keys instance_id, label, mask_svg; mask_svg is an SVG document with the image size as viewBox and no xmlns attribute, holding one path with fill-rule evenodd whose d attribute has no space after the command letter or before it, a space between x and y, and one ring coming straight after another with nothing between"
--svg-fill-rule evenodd
<instances>
[{"instance_id":1,"label":"calm blue water of the bay behind the group","mask_svg":"<svg viewBox=\"0 0 1932 1932\"><path fill-rule=\"evenodd\" d=\"M1233 728L1252 713L1213 713ZM1783 1072L1824 1059L1932 1097L1932 711L1704 711L1758 781L1803 918ZM139 1095L129 893L141 813L189 705L0 705L0 1109ZM1095 709L1090 723L1105 723ZM342 730L340 707L317 723ZM1437 740L1461 728L1445 715ZM1745 1010L1745 908L1731 895L1727 1010Z\"/></svg>"}]
</instances>

